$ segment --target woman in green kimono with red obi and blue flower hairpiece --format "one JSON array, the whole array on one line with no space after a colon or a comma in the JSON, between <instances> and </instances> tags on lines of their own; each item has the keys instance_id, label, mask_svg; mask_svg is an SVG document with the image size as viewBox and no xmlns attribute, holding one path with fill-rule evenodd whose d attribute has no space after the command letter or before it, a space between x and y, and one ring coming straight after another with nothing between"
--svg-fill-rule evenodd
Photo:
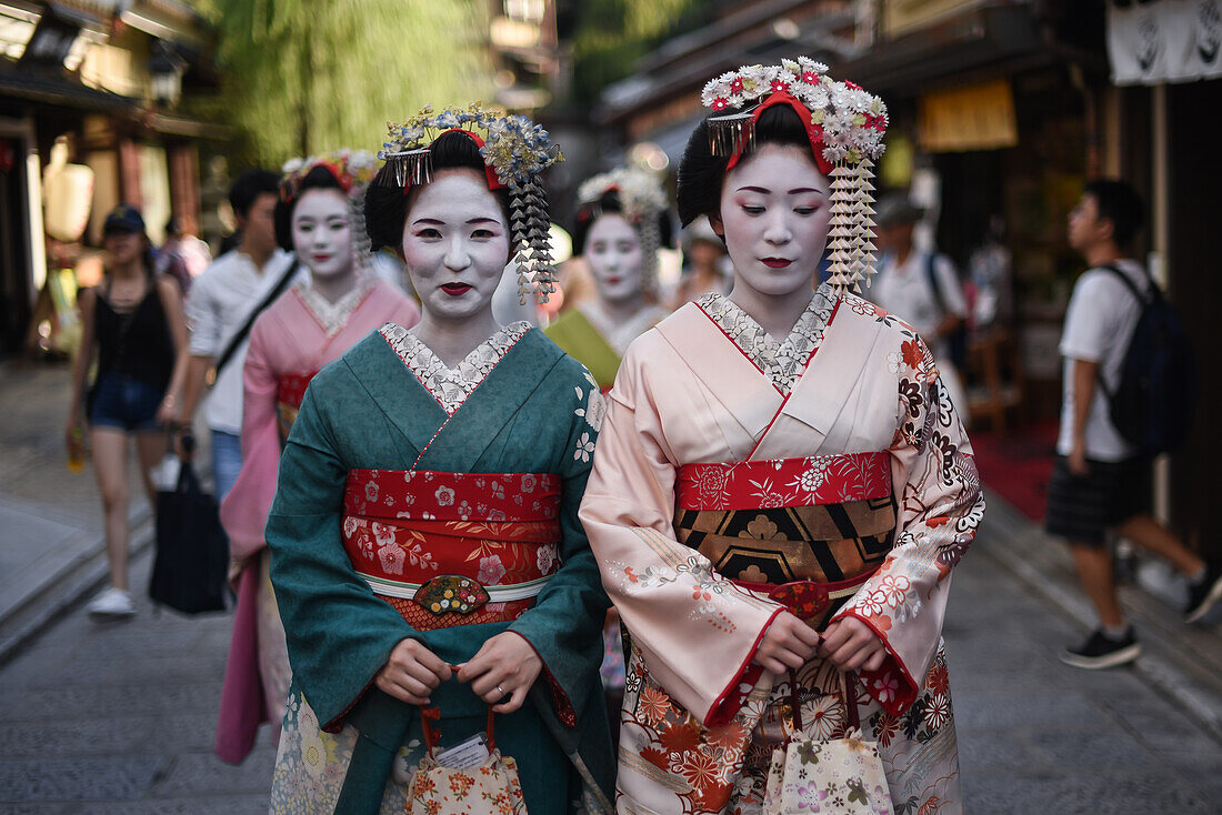
<instances>
[{"instance_id":1,"label":"woman in green kimono with red obi and blue flower hairpiece","mask_svg":"<svg viewBox=\"0 0 1222 815\"><path fill-rule=\"evenodd\" d=\"M532 815L610 813L609 602L577 519L602 397L491 313L511 250L524 288L554 286L535 178L558 150L472 108L393 126L382 158L367 226L423 318L324 368L280 459L266 539L293 685L271 811L402 813L422 710L448 748L491 707Z\"/></svg>"}]
</instances>

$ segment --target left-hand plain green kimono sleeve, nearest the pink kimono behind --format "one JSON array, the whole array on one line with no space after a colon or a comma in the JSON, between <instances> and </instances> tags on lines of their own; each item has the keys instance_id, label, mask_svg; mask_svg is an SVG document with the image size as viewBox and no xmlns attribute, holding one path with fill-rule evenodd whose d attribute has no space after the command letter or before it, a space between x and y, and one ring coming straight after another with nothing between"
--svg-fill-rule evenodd
<instances>
[{"instance_id":1,"label":"left-hand plain green kimono sleeve, nearest the pink kimono behind","mask_svg":"<svg viewBox=\"0 0 1222 815\"><path fill-rule=\"evenodd\" d=\"M265 532L295 682L324 729L332 732L395 645L414 633L356 574L343 549L341 513L348 467L335 440L337 423L320 396L347 385L336 381L336 373L335 367L325 369L306 392L280 459L279 489Z\"/></svg>"}]
</instances>

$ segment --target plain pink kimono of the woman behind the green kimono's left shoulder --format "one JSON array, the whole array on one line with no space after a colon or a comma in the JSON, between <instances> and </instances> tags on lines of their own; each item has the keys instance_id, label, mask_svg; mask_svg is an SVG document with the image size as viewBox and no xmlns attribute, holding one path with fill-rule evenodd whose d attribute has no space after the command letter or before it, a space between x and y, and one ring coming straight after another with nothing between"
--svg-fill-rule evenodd
<instances>
[{"instance_id":1,"label":"plain pink kimono of the woman behind the green kimono's left shoulder","mask_svg":"<svg viewBox=\"0 0 1222 815\"><path fill-rule=\"evenodd\" d=\"M216 754L238 764L254 744L259 723L279 736L288 695L288 655L268 573L263 527L276 492L280 448L309 380L358 340L386 323L414 325L420 312L390 283L363 279L327 302L307 283L285 292L254 323L246 357L242 403L242 472L221 503L238 605L225 668Z\"/></svg>"}]
</instances>

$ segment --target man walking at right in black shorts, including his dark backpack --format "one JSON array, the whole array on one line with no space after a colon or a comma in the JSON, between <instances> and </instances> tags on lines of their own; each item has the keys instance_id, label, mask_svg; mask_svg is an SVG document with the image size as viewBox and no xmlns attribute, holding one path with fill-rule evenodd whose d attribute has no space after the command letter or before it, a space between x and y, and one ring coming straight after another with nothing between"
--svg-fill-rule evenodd
<instances>
[{"instance_id":1,"label":"man walking at right in black shorts, including his dark backpack","mask_svg":"<svg viewBox=\"0 0 1222 815\"><path fill-rule=\"evenodd\" d=\"M1069 214L1069 244L1089 269L1078 279L1061 338L1061 434L1046 529L1064 538L1100 627L1061 659L1080 668L1132 662L1141 650L1116 595L1107 533L1158 555L1189 583L1185 619L1222 599L1222 567L1188 550L1151 514L1151 458L1182 436L1191 411L1187 336L1157 285L1128 257L1145 220L1121 181L1092 181Z\"/></svg>"}]
</instances>

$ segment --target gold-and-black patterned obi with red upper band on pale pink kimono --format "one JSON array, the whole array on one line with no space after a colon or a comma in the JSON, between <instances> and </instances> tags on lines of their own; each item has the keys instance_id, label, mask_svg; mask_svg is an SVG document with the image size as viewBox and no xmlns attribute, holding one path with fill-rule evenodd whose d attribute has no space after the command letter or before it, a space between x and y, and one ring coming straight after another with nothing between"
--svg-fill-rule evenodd
<instances>
[{"instance_id":1,"label":"gold-and-black patterned obi with red upper band on pale pink kimono","mask_svg":"<svg viewBox=\"0 0 1222 815\"><path fill-rule=\"evenodd\" d=\"M675 491L679 543L820 628L896 530L887 452L687 464Z\"/></svg>"}]
</instances>

